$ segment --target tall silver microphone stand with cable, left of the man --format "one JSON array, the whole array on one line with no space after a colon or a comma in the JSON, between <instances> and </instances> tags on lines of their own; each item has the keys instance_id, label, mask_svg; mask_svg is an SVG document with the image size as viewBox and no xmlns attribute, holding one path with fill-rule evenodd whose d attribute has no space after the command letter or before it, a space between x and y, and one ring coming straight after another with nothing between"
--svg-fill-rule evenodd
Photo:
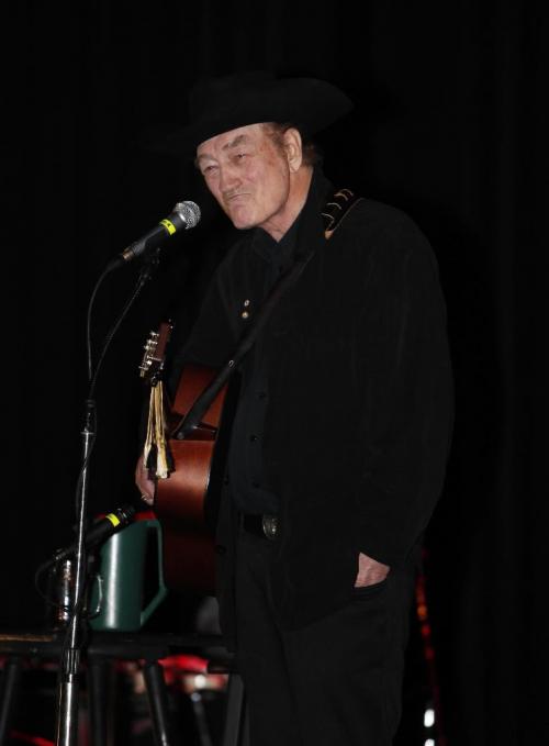
<instances>
[{"instance_id":1,"label":"tall silver microphone stand with cable, left of the man","mask_svg":"<svg viewBox=\"0 0 549 746\"><path fill-rule=\"evenodd\" d=\"M78 736L78 673L80 669L81 652L85 645L85 630L82 626L82 611L85 606L85 591L86 591L86 549L85 535L87 527L87 511L88 511L88 490L89 490L89 465L93 443L97 436L96 428L96 400L94 389L101 363L104 359L107 348L109 347L114 334L120 324L128 312L131 305L143 290L147 280L150 279L153 270L158 266L159 249L157 249L150 258L146 259L143 265L137 285L131 298L124 305L119 320L111 329L103 345L103 350L100 355L96 371L92 375L91 366L91 345L89 335L89 319L91 314L91 307L96 293L101 285L103 278L116 266L111 263L99 278L89 303L88 312L88 355L89 355L89 378L90 389L86 399L83 426L81 431L82 437L82 467L78 480L78 498L77 498L77 542L76 542L76 563L75 563L75 582L71 589L71 598L69 602L70 621L68 623L67 635L63 645L61 657L59 661L59 678L57 686L57 727L56 727L56 746L76 746Z\"/></svg>"}]
</instances>

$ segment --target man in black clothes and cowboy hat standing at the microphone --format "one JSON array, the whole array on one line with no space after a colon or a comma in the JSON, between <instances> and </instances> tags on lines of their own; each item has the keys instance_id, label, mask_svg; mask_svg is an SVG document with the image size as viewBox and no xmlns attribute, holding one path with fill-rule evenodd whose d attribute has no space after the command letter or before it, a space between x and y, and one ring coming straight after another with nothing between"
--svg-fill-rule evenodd
<instances>
[{"instance_id":1,"label":"man in black clothes and cowboy hat standing at the microphone","mask_svg":"<svg viewBox=\"0 0 549 746\"><path fill-rule=\"evenodd\" d=\"M334 188L303 137L350 109L323 81L231 76L195 88L181 133L245 231L182 361L224 365L306 257L242 363L216 526L221 622L253 746L389 746L415 561L448 454L445 305L426 238L366 199L332 235L323 223ZM137 485L152 503L141 465Z\"/></svg>"}]
</instances>

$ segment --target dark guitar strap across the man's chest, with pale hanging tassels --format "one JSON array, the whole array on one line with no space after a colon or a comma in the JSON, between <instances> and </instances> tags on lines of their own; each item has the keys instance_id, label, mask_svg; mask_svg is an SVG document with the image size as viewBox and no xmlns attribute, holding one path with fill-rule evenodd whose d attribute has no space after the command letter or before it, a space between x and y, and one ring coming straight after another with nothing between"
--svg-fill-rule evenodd
<instances>
[{"instance_id":1,"label":"dark guitar strap across the man's chest, with pale hanging tassels","mask_svg":"<svg viewBox=\"0 0 549 746\"><path fill-rule=\"evenodd\" d=\"M350 191L350 189L340 189L329 197L321 212L324 221L324 237L326 241L328 241L334 235L334 232L338 225L340 225L345 215L349 213L350 209L361 198L357 197L352 191ZM143 463L158 479L166 479L173 470L167 436L176 437L177 439L182 441L192 430L194 430L194 427L197 427L202 422L204 413L208 411L221 389L225 386L225 383L227 383L228 379L238 367L240 360L254 345L254 342L256 341L260 331L264 329L280 298L284 294L288 288L290 288L298 280L314 253L315 248L306 252L278 280L267 297L267 300L257 312L254 323L248 326L239 339L231 359L223 366L223 368L212 379L209 386L206 386L200 397L194 401L191 409L182 417L180 423L169 434L166 426L163 381L161 379L158 379L153 382L150 388L147 435L144 445Z\"/></svg>"}]
</instances>

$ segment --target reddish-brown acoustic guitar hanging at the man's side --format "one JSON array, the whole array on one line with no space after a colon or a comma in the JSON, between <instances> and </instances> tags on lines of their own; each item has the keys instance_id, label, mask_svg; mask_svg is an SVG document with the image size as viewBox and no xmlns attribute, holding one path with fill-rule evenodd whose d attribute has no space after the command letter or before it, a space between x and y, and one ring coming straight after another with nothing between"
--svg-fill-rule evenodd
<instances>
[{"instance_id":1,"label":"reddish-brown acoustic guitar hanging at the man's side","mask_svg":"<svg viewBox=\"0 0 549 746\"><path fill-rule=\"evenodd\" d=\"M150 386L161 385L171 324L152 332L139 366ZM214 541L217 506L236 402L233 382L225 385L184 438L180 427L198 397L216 375L213 368L187 365L182 369L167 411L167 446L170 470L156 479L154 512L163 528L164 576L175 591L214 593ZM156 478L155 474L150 475Z\"/></svg>"}]
</instances>

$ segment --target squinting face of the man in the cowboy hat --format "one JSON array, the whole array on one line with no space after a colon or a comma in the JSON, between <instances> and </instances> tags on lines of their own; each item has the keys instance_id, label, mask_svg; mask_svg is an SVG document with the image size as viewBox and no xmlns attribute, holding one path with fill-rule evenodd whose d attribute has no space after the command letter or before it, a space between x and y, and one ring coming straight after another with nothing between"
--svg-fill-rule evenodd
<instances>
[{"instance_id":1,"label":"squinting face of the man in the cowboy hat","mask_svg":"<svg viewBox=\"0 0 549 746\"><path fill-rule=\"evenodd\" d=\"M237 229L269 233L283 220L290 194L288 158L262 124L249 124L201 143L197 165Z\"/></svg>"}]
</instances>

